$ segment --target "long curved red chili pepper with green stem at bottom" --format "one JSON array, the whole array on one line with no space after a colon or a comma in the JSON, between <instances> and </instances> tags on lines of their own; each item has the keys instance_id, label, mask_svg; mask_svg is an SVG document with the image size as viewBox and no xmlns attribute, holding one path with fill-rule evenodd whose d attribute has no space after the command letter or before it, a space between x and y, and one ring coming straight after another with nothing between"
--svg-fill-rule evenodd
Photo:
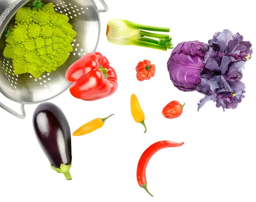
<instances>
[{"instance_id":1,"label":"long curved red chili pepper with green stem at bottom","mask_svg":"<svg viewBox=\"0 0 256 202\"><path fill-rule=\"evenodd\" d=\"M148 165L149 160L151 159L151 157L159 150L163 149L163 148L168 148L168 147L179 147L181 145L183 145L184 142L181 143L177 143L177 142L171 142L171 141L159 141L159 142L155 142L154 144L152 144L151 146L149 146L144 152L143 154L140 156L140 160L138 162L138 166L137 166L137 182L140 185L140 187L144 188L145 191L148 191L147 188L147 179L146 179L146 168ZM150 196L153 196L151 193L149 193Z\"/></svg>"}]
</instances>

